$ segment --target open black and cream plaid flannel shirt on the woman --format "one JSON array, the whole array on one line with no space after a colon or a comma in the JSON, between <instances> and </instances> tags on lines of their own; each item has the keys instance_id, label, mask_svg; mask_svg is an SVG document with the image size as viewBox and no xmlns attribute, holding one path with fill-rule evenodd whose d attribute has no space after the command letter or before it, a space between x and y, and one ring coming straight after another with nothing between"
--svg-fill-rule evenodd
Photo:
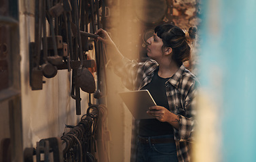
<instances>
[{"instance_id":1,"label":"open black and cream plaid flannel shirt on the woman","mask_svg":"<svg viewBox=\"0 0 256 162\"><path fill-rule=\"evenodd\" d=\"M144 63L130 61L123 58L114 66L117 76L122 78L123 84L130 90L140 90L151 82L153 72L158 68L158 63L152 59ZM191 161L190 144L192 132L194 132L194 115L196 96L196 76L185 69L183 65L166 82L166 95L170 111L178 115L179 130L174 129L177 157L179 161ZM136 160L136 136L139 121L132 124L131 161Z\"/></svg>"}]
</instances>

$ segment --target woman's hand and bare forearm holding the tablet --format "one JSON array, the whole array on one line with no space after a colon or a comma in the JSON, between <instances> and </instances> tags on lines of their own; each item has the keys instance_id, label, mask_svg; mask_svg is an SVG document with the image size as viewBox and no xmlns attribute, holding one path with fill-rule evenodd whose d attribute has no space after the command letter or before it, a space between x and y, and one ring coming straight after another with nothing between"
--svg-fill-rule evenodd
<instances>
[{"instance_id":1,"label":"woman's hand and bare forearm holding the tablet","mask_svg":"<svg viewBox=\"0 0 256 162\"><path fill-rule=\"evenodd\" d=\"M168 122L170 125L175 127L176 129L179 129L179 117L171 113L168 109L161 106L153 106L149 107L149 111L147 111L149 115L152 115L153 117L156 117L159 121L162 122Z\"/></svg>"}]
</instances>

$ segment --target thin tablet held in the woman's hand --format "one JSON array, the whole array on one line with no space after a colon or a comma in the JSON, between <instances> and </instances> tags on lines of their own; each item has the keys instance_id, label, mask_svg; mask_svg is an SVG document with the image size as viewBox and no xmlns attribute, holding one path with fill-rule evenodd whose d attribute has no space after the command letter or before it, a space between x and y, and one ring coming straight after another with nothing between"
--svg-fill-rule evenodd
<instances>
[{"instance_id":1,"label":"thin tablet held in the woman's hand","mask_svg":"<svg viewBox=\"0 0 256 162\"><path fill-rule=\"evenodd\" d=\"M149 107L156 105L156 102L151 97L149 90L133 90L128 92L119 92L118 94L135 119L154 118L147 114Z\"/></svg>"}]
</instances>

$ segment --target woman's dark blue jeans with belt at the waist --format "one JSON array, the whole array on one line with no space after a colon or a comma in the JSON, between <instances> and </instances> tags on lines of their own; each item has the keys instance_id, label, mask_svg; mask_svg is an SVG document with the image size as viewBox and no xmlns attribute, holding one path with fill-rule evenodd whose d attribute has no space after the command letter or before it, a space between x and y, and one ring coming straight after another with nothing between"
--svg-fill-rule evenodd
<instances>
[{"instance_id":1,"label":"woman's dark blue jeans with belt at the waist","mask_svg":"<svg viewBox=\"0 0 256 162\"><path fill-rule=\"evenodd\" d=\"M153 136L155 138L173 138L173 135ZM141 143L137 140L136 162L177 162L176 144L151 144Z\"/></svg>"}]
</instances>

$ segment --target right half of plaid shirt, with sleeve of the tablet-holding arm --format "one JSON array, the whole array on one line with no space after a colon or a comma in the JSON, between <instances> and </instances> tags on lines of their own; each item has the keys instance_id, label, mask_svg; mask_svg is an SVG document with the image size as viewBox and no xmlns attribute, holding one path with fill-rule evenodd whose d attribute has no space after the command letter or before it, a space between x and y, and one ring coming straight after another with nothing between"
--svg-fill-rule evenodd
<instances>
[{"instance_id":1,"label":"right half of plaid shirt, with sleeve of the tablet-holding arm","mask_svg":"<svg viewBox=\"0 0 256 162\"><path fill-rule=\"evenodd\" d=\"M182 74L178 73L175 76L179 76L176 84L173 84L173 88L170 92L172 99L168 99L172 112L177 114L179 121L179 130L175 131L175 141L177 146L177 156L179 161L191 161L191 142L194 141L194 128L196 115L196 85L198 81L196 77L191 74L185 68L180 68ZM170 81L172 82L172 81ZM172 105L172 106L171 106Z\"/></svg>"}]
</instances>

